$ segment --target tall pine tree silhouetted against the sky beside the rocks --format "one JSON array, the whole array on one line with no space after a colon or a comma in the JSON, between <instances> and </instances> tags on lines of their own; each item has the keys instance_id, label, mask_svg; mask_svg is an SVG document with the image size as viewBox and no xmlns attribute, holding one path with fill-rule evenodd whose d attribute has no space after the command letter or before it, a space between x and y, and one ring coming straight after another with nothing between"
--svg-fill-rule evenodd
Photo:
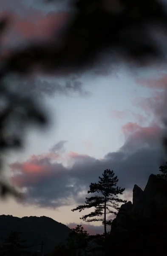
<instances>
[{"instance_id":1,"label":"tall pine tree silhouetted against the sky beside the rocks","mask_svg":"<svg viewBox=\"0 0 167 256\"><path fill-rule=\"evenodd\" d=\"M86 198L84 205L79 205L72 211L82 210L86 208L94 207L95 210L87 215L83 215L82 220L91 222L91 221L102 221L104 224L105 237L107 236L107 225L111 224L111 220L107 220L107 214L116 214L119 210L119 203L125 203L126 200L118 198L118 195L122 195L125 188L121 189L116 186L118 182L118 177L115 176L113 171L107 169L103 172L102 177L99 176L98 183L91 183L89 193L100 193L101 195L95 195L91 198ZM92 218L97 217L97 218ZM100 217L100 218L98 218Z\"/></svg>"}]
</instances>

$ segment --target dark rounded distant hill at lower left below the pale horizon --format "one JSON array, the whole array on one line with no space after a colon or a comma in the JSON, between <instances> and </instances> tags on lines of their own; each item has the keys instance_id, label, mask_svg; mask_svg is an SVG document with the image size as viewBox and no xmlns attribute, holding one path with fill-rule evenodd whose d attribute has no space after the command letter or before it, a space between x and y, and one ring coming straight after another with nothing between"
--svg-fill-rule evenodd
<instances>
[{"instance_id":1,"label":"dark rounded distant hill at lower left below the pale horizon","mask_svg":"<svg viewBox=\"0 0 167 256\"><path fill-rule=\"evenodd\" d=\"M49 217L13 217L12 215L0 215L0 245L2 244L2 237L7 237L11 230L21 231L22 238L27 243L33 243L35 246L32 250L40 250L42 240L45 244L43 246L43 253L49 253L55 245L65 242L71 229L64 224L54 221Z\"/></svg>"}]
</instances>

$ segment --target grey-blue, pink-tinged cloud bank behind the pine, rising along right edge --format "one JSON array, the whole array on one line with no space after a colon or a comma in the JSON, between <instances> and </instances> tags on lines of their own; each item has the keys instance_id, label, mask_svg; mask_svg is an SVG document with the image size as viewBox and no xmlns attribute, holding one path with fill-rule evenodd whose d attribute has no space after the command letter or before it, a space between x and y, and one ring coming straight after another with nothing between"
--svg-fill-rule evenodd
<instances>
[{"instance_id":1,"label":"grey-blue, pink-tinged cloud bank behind the pine, rising along right edge","mask_svg":"<svg viewBox=\"0 0 167 256\"><path fill-rule=\"evenodd\" d=\"M152 90L155 93L156 89ZM158 173L159 166L164 163L161 137L166 130L161 118L166 115L167 97L165 91L162 94L142 98L150 110L150 121L147 125L138 122L123 125L124 145L101 159L65 152L66 141L61 140L45 154L33 155L25 162L12 163L11 179L25 189L27 203L52 209L82 204L90 183L97 182L105 169L113 169L119 178L119 186L126 188L127 198L134 184L144 188L149 175ZM67 166L64 159L68 160Z\"/></svg>"}]
</instances>

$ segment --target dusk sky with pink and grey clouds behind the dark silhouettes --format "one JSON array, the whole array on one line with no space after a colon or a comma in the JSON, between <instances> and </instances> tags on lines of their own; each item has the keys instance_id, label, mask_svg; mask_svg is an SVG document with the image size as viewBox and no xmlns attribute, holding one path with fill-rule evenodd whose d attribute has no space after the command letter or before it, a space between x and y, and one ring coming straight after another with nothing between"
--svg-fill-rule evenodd
<instances>
[{"instance_id":1,"label":"dusk sky with pink and grey clouds behind the dark silhouettes","mask_svg":"<svg viewBox=\"0 0 167 256\"><path fill-rule=\"evenodd\" d=\"M55 23L58 30L68 11L61 3L13 1L0 2L2 16L13 19L2 56L8 47L50 38ZM134 68L126 61L100 61L91 70L66 78L26 79L25 91L42 102L51 124L45 131L28 129L24 150L6 156L8 177L27 197L22 203L13 198L1 201L0 214L45 215L76 227L82 212L71 209L84 203L90 183L97 182L105 169L118 176L127 201L132 200L134 184L144 189L149 175L159 172L165 159L161 138L167 107L166 64ZM13 81L9 78L9 83ZM102 232L100 224L82 224L88 233Z\"/></svg>"}]
</instances>

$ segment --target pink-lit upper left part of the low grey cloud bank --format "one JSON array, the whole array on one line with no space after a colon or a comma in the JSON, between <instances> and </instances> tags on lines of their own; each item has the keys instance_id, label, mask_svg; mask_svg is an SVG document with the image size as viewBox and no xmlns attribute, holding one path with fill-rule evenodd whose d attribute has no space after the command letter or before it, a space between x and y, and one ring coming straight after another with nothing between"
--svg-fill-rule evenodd
<instances>
[{"instance_id":1,"label":"pink-lit upper left part of the low grey cloud bank","mask_svg":"<svg viewBox=\"0 0 167 256\"><path fill-rule=\"evenodd\" d=\"M67 158L74 160L83 160L88 157L86 154L77 154L73 151L66 154ZM41 155L32 155L25 162L11 163L9 167L12 171L12 182L20 187L26 184L38 183L47 178L57 178L62 175L57 160L62 160L61 155L54 152L46 152ZM65 175L65 173L64 173Z\"/></svg>"}]
</instances>

